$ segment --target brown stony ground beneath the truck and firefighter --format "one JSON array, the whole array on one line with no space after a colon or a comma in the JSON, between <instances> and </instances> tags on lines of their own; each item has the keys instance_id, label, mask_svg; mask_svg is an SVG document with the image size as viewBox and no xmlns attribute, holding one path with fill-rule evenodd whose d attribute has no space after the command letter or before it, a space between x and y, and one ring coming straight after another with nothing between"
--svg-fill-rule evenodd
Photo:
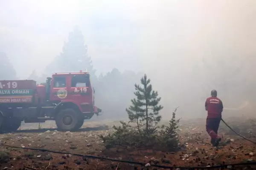
<instances>
[{"instance_id":1,"label":"brown stony ground beneath the truck and firefighter","mask_svg":"<svg viewBox=\"0 0 256 170\"><path fill-rule=\"evenodd\" d=\"M227 121L234 130L241 135L256 141L256 119L244 117L229 118ZM167 166L209 166L216 164L231 164L256 160L256 145L234 135L224 124L221 124L219 134L223 137L223 146L211 147L209 137L205 132L205 120L188 120L181 122L179 128L180 144L183 150L177 153L156 152L153 150L136 150L134 148L111 148L104 150L104 145L98 135L111 133L108 129L117 122L85 122L79 132L58 132L54 123L43 124L39 129L38 124L22 126L17 133L0 134L0 141L18 147L43 148L48 150L80 153L93 156L108 156L122 160L148 163L150 159L159 161ZM108 126L108 127L107 127ZM34 129L33 129L34 128ZM26 130L25 130L26 129ZM165 163L163 163L165 162ZM16 149L0 146L0 169L34 169L34 170L116 170L117 169L142 169L134 164L118 163L99 159L83 159L78 156ZM24 168L29 167L29 168ZM241 169L250 169L243 167ZM254 167L252 166L254 169ZM149 167L154 169L154 167ZM238 169L238 168L236 168ZM155 169L156 170L156 169Z\"/></svg>"}]
</instances>

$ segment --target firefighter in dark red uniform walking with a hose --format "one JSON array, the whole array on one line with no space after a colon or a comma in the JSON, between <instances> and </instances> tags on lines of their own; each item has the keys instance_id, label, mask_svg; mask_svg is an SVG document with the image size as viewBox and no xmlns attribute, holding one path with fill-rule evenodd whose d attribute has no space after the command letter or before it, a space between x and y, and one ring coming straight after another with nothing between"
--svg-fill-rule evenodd
<instances>
[{"instance_id":1,"label":"firefighter in dark red uniform walking with a hose","mask_svg":"<svg viewBox=\"0 0 256 170\"><path fill-rule=\"evenodd\" d=\"M217 98L217 91L211 91L211 97L205 101L205 110L207 111L206 131L211 137L211 144L217 147L221 138L218 136L218 128L221 121L223 104L221 99Z\"/></svg>"}]
</instances>

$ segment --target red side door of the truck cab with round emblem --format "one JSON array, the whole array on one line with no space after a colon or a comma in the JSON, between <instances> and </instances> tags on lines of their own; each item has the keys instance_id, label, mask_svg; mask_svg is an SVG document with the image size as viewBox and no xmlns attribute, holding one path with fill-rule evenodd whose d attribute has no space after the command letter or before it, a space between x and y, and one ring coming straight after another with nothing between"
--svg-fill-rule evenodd
<instances>
[{"instance_id":1,"label":"red side door of the truck cab with round emblem","mask_svg":"<svg viewBox=\"0 0 256 170\"><path fill-rule=\"evenodd\" d=\"M61 101L67 98L67 80L65 76L53 77L51 86L51 101Z\"/></svg>"}]
</instances>

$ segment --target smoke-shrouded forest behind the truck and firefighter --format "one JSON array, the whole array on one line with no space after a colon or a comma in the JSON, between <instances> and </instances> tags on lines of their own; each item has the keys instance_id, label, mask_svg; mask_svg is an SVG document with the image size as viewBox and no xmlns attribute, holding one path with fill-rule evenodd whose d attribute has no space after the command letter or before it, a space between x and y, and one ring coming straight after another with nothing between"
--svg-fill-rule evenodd
<instances>
[{"instance_id":1,"label":"smoke-shrouded forest behind the truck and firefighter","mask_svg":"<svg viewBox=\"0 0 256 170\"><path fill-rule=\"evenodd\" d=\"M214 47L215 44L212 46ZM218 48L217 46L216 49ZM225 48L225 44L222 48ZM70 32L67 42L64 42L62 52L45 67L44 73L39 75L34 70L28 79L35 80L40 84L45 82L52 72L87 69L91 74L96 91L96 105L103 110L103 115L98 118L95 116L93 119L125 119L125 108L131 104L131 99L134 98L134 84L140 81L144 73L152 78L152 84L163 95L162 104L166 106L163 113L169 116L176 107L180 107L179 115L183 118L191 118L195 115L197 117L205 116L204 101L209 97L211 89L217 89L220 92L224 107L240 107L243 102L249 101L249 111L253 109L255 103L253 89L256 82L254 77L248 74L255 70L253 57L243 59L234 52L233 56L229 56L225 55L226 50L224 50L209 54L214 58L203 56L197 65L191 65L190 68L183 68L183 65L180 65L179 70L173 70L172 64L179 65L179 63L170 63L169 68L156 66L157 69L152 72L134 72L132 70L120 72L113 68L105 74L96 74L97 70L93 67L93 61L87 50L84 35L78 27L75 27L73 32ZM0 59L0 80L19 79L16 76L15 68L8 59L8 54L0 52ZM162 73L163 75L160 76ZM163 82L163 79L166 81ZM245 114L247 111L243 109L243 112L239 111L238 114ZM233 112L231 111L231 114Z\"/></svg>"}]
</instances>

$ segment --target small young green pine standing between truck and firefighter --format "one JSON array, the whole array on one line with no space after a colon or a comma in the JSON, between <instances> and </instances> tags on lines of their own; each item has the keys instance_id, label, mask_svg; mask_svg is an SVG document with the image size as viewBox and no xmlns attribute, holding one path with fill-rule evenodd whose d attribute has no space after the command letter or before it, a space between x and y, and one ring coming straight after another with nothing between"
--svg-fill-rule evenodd
<instances>
[{"instance_id":1,"label":"small young green pine standing between truck and firefighter","mask_svg":"<svg viewBox=\"0 0 256 170\"><path fill-rule=\"evenodd\" d=\"M161 120L159 111L163 107L159 105L161 98L158 98L158 92L152 89L146 74L140 79L140 83L142 86L134 85L137 100L132 100L133 105L127 111L131 121L138 119L140 122L145 122L145 132L149 134L156 130L154 125ZM134 115L131 114L132 111L135 112Z\"/></svg>"}]
</instances>

